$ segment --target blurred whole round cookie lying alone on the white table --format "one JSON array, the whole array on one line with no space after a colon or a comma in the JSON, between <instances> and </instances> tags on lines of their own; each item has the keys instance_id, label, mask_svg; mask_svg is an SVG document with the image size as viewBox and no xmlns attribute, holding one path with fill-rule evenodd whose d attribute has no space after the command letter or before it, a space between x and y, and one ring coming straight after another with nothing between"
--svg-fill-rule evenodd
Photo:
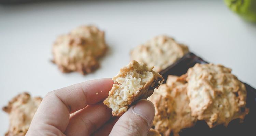
<instances>
[{"instance_id":1,"label":"blurred whole round cookie lying alone on the white table","mask_svg":"<svg viewBox=\"0 0 256 136\"><path fill-rule=\"evenodd\" d=\"M80 26L56 39L53 62L63 73L77 71L85 75L99 67L98 59L106 50L103 31L95 26Z\"/></svg>"}]
</instances>

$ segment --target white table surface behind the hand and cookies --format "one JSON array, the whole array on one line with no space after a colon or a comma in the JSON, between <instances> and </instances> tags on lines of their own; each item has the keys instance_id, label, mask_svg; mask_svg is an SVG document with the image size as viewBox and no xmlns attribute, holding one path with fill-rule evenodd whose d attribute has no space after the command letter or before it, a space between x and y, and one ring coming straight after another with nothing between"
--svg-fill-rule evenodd
<instances>
[{"instance_id":1,"label":"white table surface behind the hand and cookies","mask_svg":"<svg viewBox=\"0 0 256 136\"><path fill-rule=\"evenodd\" d=\"M92 74L63 74L50 62L59 34L96 24L110 50ZM55 1L0 5L0 106L28 91L32 96L90 79L113 77L128 64L129 51L159 35L173 36L205 60L233 69L256 87L256 25L220 1ZM8 115L0 112L0 135Z\"/></svg>"}]
</instances>

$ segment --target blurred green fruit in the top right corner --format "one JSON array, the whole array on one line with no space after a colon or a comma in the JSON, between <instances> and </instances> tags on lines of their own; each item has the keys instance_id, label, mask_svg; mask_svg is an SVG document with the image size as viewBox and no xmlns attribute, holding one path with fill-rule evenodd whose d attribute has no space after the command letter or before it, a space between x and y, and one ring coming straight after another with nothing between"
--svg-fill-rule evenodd
<instances>
[{"instance_id":1,"label":"blurred green fruit in the top right corner","mask_svg":"<svg viewBox=\"0 0 256 136\"><path fill-rule=\"evenodd\" d=\"M224 0L224 2L244 19L256 22L256 0Z\"/></svg>"}]
</instances>

